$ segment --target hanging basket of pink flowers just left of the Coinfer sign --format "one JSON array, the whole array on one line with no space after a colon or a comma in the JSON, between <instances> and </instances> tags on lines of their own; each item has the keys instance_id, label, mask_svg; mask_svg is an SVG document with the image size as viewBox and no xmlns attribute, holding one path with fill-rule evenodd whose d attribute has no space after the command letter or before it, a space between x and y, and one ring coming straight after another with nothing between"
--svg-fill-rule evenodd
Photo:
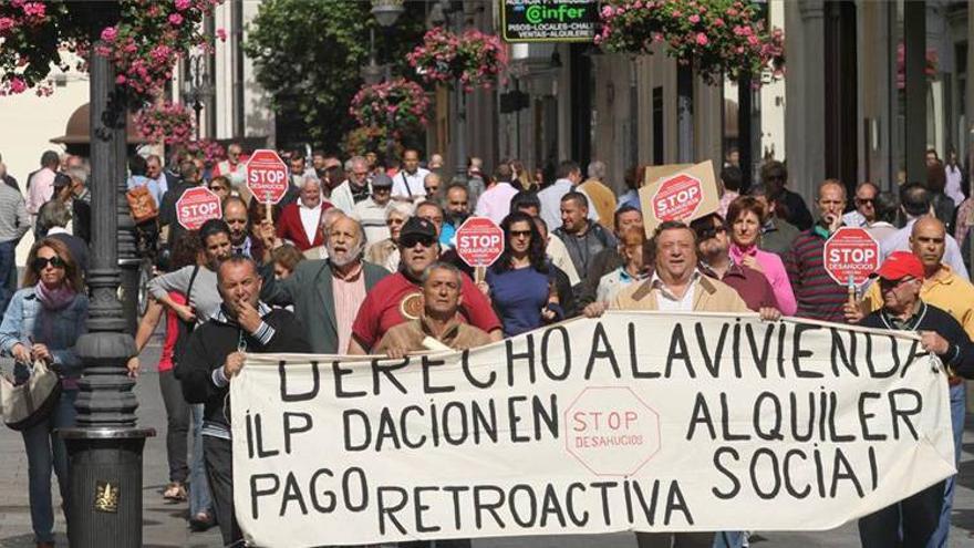
<instances>
[{"instance_id":1,"label":"hanging basket of pink flowers just left of the Coinfer sign","mask_svg":"<svg viewBox=\"0 0 974 548\"><path fill-rule=\"evenodd\" d=\"M500 39L476 29L456 34L434 27L406 58L427 83L456 84L467 93L477 87L489 90L507 66Z\"/></svg>"}]
</instances>

